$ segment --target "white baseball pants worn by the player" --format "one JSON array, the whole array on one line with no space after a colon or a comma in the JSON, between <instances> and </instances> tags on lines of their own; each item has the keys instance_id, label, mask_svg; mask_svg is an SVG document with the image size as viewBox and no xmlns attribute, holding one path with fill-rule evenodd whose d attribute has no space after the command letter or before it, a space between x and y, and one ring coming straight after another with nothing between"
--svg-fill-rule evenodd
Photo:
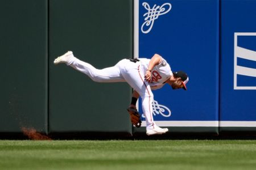
<instances>
[{"instance_id":1,"label":"white baseball pants worn by the player","mask_svg":"<svg viewBox=\"0 0 256 170\"><path fill-rule=\"evenodd\" d=\"M105 69L96 69L89 63L72 57L67 65L88 75L94 82L127 82L136 90L142 99L142 110L146 117L146 129L153 129L155 122L152 116L152 94L150 85L144 80L144 68L141 62L131 62L129 59L122 59L115 66Z\"/></svg>"}]
</instances>

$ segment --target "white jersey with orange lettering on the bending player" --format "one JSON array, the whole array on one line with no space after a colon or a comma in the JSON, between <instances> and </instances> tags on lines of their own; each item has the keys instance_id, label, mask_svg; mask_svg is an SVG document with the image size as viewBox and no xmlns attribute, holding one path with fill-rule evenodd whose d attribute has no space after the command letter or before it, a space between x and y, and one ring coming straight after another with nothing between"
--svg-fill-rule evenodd
<instances>
[{"instance_id":1,"label":"white jersey with orange lettering on the bending player","mask_svg":"<svg viewBox=\"0 0 256 170\"><path fill-rule=\"evenodd\" d=\"M139 58L141 61L141 65L143 66L144 73L148 68L150 63L150 59L147 58ZM164 82L168 78L172 76L172 71L170 65L166 62L166 60L161 57L161 61L159 65L156 65L153 70L151 70L151 81L149 82L152 90L163 87Z\"/></svg>"}]
</instances>

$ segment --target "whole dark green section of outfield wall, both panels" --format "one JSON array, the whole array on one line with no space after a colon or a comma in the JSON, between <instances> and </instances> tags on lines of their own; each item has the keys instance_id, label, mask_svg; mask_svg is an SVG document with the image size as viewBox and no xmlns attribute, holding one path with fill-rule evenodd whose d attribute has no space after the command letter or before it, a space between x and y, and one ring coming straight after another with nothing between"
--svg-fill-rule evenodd
<instances>
[{"instance_id":1,"label":"whole dark green section of outfield wall, both panels","mask_svg":"<svg viewBox=\"0 0 256 170\"><path fill-rule=\"evenodd\" d=\"M126 83L95 83L57 56L98 69L133 57L133 1L1 1L0 132L131 135Z\"/></svg>"}]
</instances>

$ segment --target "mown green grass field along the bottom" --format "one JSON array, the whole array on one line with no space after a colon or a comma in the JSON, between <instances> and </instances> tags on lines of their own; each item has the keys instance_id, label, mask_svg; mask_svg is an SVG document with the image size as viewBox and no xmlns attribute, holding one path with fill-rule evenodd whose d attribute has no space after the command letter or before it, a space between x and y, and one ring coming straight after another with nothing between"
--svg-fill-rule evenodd
<instances>
[{"instance_id":1,"label":"mown green grass field along the bottom","mask_svg":"<svg viewBox=\"0 0 256 170\"><path fill-rule=\"evenodd\" d=\"M0 169L256 169L256 141L0 141Z\"/></svg>"}]
</instances>

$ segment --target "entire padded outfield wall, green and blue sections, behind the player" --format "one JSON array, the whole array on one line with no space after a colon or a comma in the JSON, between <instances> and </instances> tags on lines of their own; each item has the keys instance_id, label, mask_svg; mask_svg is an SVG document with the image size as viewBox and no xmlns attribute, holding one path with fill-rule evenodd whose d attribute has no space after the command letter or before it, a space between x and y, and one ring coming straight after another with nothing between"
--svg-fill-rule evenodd
<instances>
[{"instance_id":1,"label":"entire padded outfield wall, green and blue sections, behind the player","mask_svg":"<svg viewBox=\"0 0 256 170\"><path fill-rule=\"evenodd\" d=\"M256 0L135 2L135 57L159 53L190 78L188 91L165 86L154 92L157 124L171 134L255 132ZM171 3L171 9L142 28L143 2L166 9ZM71 67L53 65L67 50L98 69L132 57L132 0L1 1L0 15L1 133L26 127L52 134L132 134L126 83L95 83Z\"/></svg>"}]
</instances>

